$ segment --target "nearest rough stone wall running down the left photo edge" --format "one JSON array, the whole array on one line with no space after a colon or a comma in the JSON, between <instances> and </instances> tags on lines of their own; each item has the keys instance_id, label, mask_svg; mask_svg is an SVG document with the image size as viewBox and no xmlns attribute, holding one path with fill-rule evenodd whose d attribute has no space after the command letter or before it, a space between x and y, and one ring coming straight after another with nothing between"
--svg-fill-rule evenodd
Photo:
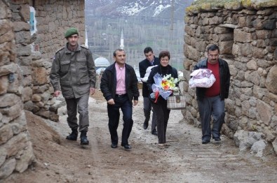
<instances>
[{"instance_id":1,"label":"nearest rough stone wall running down the left photo edge","mask_svg":"<svg viewBox=\"0 0 277 183\"><path fill-rule=\"evenodd\" d=\"M28 32L29 24L24 8L15 6L21 7L0 1L0 182L13 171L22 173L34 160L23 110L23 78L16 58L17 53L31 52L24 45L30 36L25 36L25 41L18 39L19 34Z\"/></svg>"}]
</instances>

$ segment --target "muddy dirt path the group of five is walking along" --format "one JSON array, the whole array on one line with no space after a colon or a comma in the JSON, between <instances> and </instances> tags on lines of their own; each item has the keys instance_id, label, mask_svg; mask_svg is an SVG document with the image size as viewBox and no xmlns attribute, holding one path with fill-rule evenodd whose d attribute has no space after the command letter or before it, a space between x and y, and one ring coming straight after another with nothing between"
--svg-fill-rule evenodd
<instances>
[{"instance_id":1,"label":"muddy dirt path the group of five is walking along","mask_svg":"<svg viewBox=\"0 0 277 183\"><path fill-rule=\"evenodd\" d=\"M60 122L41 119L26 112L36 163L25 173L4 182L276 182L276 156L258 159L239 152L234 142L201 144L201 129L182 120L172 110L167 138L170 147L158 149L156 136L144 131L142 98L133 108L134 126L129 142L133 149L110 147L107 108L100 91L90 98L90 145L65 140L70 132L66 115ZM121 117L122 118L122 117ZM121 119L122 120L122 119ZM122 121L119 125L121 138ZM120 141L119 141L120 144Z\"/></svg>"}]
</instances>

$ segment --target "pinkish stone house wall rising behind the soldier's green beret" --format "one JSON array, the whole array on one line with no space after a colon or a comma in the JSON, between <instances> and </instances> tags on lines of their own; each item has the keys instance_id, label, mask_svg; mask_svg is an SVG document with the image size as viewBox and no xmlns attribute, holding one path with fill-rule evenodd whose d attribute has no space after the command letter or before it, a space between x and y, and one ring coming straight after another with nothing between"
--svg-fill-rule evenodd
<instances>
[{"instance_id":1,"label":"pinkish stone house wall rising behind the soldier's green beret","mask_svg":"<svg viewBox=\"0 0 277 183\"><path fill-rule=\"evenodd\" d=\"M79 29L79 43L85 43L84 0L39 0L32 6L36 10L38 29L34 48L41 52L43 59L53 58L55 52L65 46L65 31L70 27Z\"/></svg>"}]
</instances>

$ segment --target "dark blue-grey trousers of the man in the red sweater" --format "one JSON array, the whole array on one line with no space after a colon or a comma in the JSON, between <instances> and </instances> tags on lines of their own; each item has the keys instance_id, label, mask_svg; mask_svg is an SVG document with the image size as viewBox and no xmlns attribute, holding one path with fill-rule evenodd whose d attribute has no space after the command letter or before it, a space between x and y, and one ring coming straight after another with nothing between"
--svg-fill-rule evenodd
<instances>
[{"instance_id":1,"label":"dark blue-grey trousers of the man in the red sweater","mask_svg":"<svg viewBox=\"0 0 277 183\"><path fill-rule=\"evenodd\" d=\"M222 101L219 96L212 96L197 102L201 117L202 140L210 140L211 135L213 138L220 137L220 130L225 117L224 100ZM213 118L212 132L210 131L211 116Z\"/></svg>"}]
</instances>

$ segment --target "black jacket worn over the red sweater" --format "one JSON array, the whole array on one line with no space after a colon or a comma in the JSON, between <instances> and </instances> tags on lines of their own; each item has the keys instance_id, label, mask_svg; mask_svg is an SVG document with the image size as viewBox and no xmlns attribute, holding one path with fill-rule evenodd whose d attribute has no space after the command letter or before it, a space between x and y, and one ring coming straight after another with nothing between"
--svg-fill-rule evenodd
<instances>
[{"instance_id":1,"label":"black jacket worn over the red sweater","mask_svg":"<svg viewBox=\"0 0 277 183\"><path fill-rule=\"evenodd\" d=\"M204 59L199 61L196 66L194 66L194 70L199 68L207 68L208 59ZM220 77L220 98L224 100L224 98L228 98L229 96L229 87L230 87L230 71L227 61L223 59L219 59L219 77ZM196 96L197 100L202 101L205 98L206 88L196 87Z\"/></svg>"}]
</instances>

